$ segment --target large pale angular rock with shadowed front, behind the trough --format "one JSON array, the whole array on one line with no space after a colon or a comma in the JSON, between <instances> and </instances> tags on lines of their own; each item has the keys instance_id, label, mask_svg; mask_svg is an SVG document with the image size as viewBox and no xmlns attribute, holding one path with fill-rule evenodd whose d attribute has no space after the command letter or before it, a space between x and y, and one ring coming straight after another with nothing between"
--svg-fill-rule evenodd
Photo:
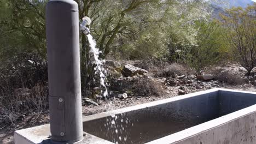
<instances>
[{"instance_id":1,"label":"large pale angular rock with shadowed front, behind the trough","mask_svg":"<svg viewBox=\"0 0 256 144\"><path fill-rule=\"evenodd\" d=\"M148 71L141 68L134 67L133 65L130 65L130 64L126 64L122 70L122 74L126 77L135 76L137 74L143 75L145 73L148 73Z\"/></svg>"}]
</instances>

